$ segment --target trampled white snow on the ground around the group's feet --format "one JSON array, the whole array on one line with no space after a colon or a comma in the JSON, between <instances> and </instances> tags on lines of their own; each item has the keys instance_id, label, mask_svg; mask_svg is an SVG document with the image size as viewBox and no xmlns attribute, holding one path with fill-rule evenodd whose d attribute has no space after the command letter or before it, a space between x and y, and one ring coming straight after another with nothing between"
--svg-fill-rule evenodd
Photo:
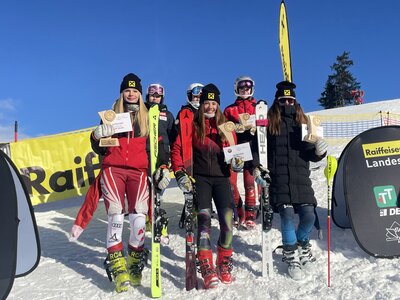
<instances>
[{"instance_id":1,"label":"trampled white snow on the ground around the group's feet","mask_svg":"<svg viewBox=\"0 0 400 300\"><path fill-rule=\"evenodd\" d=\"M400 109L400 100L364 104L357 107L379 110ZM396 107L397 106L397 107ZM353 107L354 109L354 107ZM351 108L330 113L354 113ZM357 112L358 112L357 111ZM375 111L375 110L374 110ZM370 111L368 111L370 112ZM394 111L395 112L395 111ZM319 113L319 112L318 112ZM330 147L336 157L344 145ZM273 255L275 277L261 277L260 224L257 230L234 232L234 270L231 285L220 284L213 290L185 291L184 230L178 221L183 196L177 187L164 194L163 207L169 216L170 244L161 248L163 299L400 299L399 259L370 257L357 245L351 230L331 226L331 287L327 286L327 184L323 173L326 160L312 165L313 187L319 201L318 213L324 239L312 234L312 249L317 258L314 272L303 282L286 275L279 253ZM242 189L243 192L243 189ZM69 241L69 231L82 199L69 199L35 207L42 256L31 274L17 278L8 299L147 299L150 292L150 268L143 272L142 286L117 294L108 281L103 261L105 252L106 215L100 203L92 222L77 242ZM258 220L259 222L259 220ZM217 239L217 221L213 220L212 238ZM281 243L279 216L275 215L273 246ZM128 239L128 221L124 229ZM146 239L149 247L149 238ZM27 249L27 251L29 251Z\"/></svg>"}]
</instances>

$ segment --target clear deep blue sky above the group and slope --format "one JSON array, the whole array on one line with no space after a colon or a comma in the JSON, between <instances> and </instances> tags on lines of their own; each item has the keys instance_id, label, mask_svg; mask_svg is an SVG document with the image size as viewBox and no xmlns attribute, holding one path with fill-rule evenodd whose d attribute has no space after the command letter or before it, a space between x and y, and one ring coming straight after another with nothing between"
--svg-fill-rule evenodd
<instances>
[{"instance_id":1,"label":"clear deep blue sky above the group and slope","mask_svg":"<svg viewBox=\"0 0 400 300\"><path fill-rule=\"evenodd\" d=\"M176 115L192 82L214 83L221 106L240 75L271 101L283 79L280 0L35 0L0 3L0 142L95 126L130 72L165 86ZM400 2L287 0L293 81L304 110L321 109L336 56L365 102L400 97Z\"/></svg>"}]
</instances>

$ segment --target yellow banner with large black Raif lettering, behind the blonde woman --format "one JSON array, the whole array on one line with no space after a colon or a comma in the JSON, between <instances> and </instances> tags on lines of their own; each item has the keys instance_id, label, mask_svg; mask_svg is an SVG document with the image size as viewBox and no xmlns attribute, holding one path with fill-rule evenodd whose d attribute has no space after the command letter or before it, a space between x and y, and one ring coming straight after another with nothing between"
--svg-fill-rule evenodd
<instances>
[{"instance_id":1,"label":"yellow banner with large black Raif lettering, behind the blonde woman","mask_svg":"<svg viewBox=\"0 0 400 300\"><path fill-rule=\"evenodd\" d=\"M10 143L32 205L82 196L100 171L91 129Z\"/></svg>"}]
</instances>

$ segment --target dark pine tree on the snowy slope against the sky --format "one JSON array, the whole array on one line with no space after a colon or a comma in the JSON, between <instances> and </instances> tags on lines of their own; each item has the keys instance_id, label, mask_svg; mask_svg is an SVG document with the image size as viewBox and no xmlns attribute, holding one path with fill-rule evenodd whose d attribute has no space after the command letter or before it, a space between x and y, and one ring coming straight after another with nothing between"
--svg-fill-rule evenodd
<instances>
[{"instance_id":1,"label":"dark pine tree on the snowy slope against the sky","mask_svg":"<svg viewBox=\"0 0 400 300\"><path fill-rule=\"evenodd\" d=\"M333 74L328 76L325 90L318 99L325 109L355 104L351 91L359 90L360 83L348 70L353 65L349 54L350 52L343 52L342 55L336 57L336 62L331 66Z\"/></svg>"}]
</instances>

